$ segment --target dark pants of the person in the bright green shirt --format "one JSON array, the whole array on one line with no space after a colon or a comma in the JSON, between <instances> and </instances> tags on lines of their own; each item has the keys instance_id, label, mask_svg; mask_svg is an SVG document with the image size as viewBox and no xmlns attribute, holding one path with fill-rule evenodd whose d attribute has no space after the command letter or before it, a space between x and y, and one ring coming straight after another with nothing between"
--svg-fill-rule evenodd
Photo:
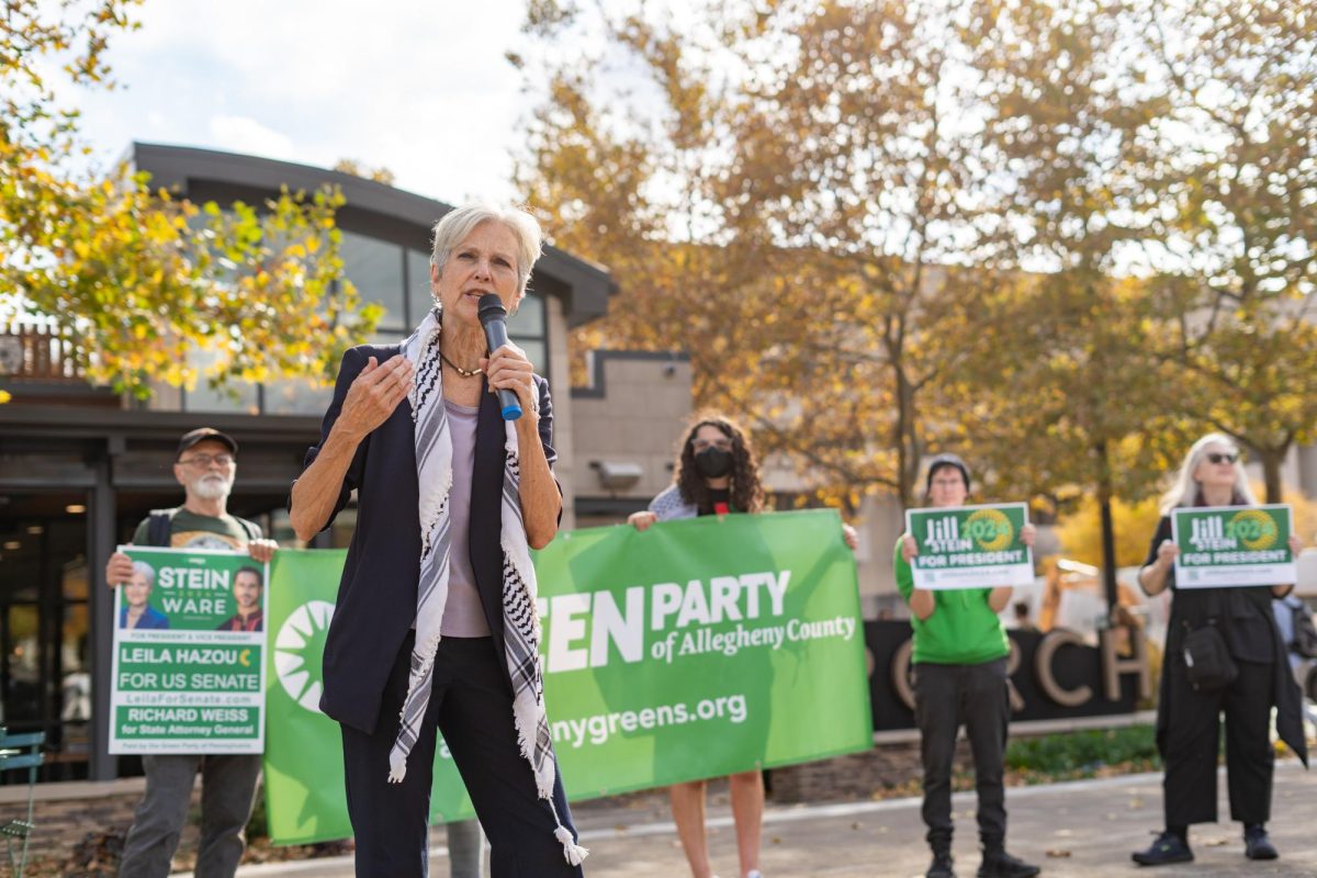
<instances>
[{"instance_id":1,"label":"dark pants of the person in the bright green shirt","mask_svg":"<svg viewBox=\"0 0 1317 878\"><path fill-rule=\"evenodd\" d=\"M915 665L914 719L923 756L923 823L928 827L928 844L934 850L951 848L951 769L956 731L964 723L975 757L979 839L984 848L1001 848L1006 841L1002 762L1010 721L1006 659L981 665Z\"/></svg>"}]
</instances>

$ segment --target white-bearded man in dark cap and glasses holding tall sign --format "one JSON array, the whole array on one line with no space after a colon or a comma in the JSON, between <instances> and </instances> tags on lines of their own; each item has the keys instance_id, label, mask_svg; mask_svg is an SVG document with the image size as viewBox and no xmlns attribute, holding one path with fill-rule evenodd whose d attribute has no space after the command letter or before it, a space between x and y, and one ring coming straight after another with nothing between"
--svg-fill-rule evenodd
<instances>
[{"instance_id":1,"label":"white-bearded man in dark cap and glasses holding tall sign","mask_svg":"<svg viewBox=\"0 0 1317 878\"><path fill-rule=\"evenodd\" d=\"M183 505L157 509L137 525L134 545L173 549L246 550L265 563L275 550L259 525L227 511L237 473L238 444L209 426L192 430L178 444L174 478L183 486ZM116 552L105 565L113 588L133 575L132 559ZM232 877L246 846L244 829L252 817L261 757L255 754L144 756L146 794L133 815L124 841L120 878L165 878L187 821L196 771L202 771L202 840L198 878Z\"/></svg>"}]
</instances>

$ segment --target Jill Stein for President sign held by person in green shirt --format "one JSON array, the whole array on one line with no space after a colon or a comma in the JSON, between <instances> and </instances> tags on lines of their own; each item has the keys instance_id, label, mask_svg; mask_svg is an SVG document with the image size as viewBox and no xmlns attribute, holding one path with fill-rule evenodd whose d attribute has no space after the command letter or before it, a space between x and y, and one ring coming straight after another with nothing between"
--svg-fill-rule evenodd
<instances>
[{"instance_id":1,"label":"Jill Stein for President sign held by person in green shirt","mask_svg":"<svg viewBox=\"0 0 1317 878\"><path fill-rule=\"evenodd\" d=\"M910 562L915 588L996 588L1034 582L1034 553L1021 542L1023 503L907 509L906 533L919 546Z\"/></svg>"}]
</instances>

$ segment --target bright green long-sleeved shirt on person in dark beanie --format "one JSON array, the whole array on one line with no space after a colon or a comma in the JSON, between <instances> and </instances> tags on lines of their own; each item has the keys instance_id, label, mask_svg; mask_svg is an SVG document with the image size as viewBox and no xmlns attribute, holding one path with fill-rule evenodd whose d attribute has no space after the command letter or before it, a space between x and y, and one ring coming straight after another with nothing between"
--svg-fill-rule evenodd
<instances>
[{"instance_id":1,"label":"bright green long-sleeved shirt on person in dark beanie","mask_svg":"<svg viewBox=\"0 0 1317 878\"><path fill-rule=\"evenodd\" d=\"M905 534L902 534L903 537ZM906 603L914 591L914 573L901 557L901 538L892 555L897 588ZM914 628L914 663L981 665L1010 653L1010 641L1001 619L988 606L992 588L934 591L934 611L925 620L910 616Z\"/></svg>"}]
</instances>

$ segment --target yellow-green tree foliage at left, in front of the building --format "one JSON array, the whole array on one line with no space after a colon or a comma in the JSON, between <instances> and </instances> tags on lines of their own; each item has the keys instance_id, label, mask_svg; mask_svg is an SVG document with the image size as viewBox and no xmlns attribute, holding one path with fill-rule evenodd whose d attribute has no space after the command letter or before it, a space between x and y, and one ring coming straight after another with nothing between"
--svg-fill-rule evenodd
<instances>
[{"instance_id":1,"label":"yellow-green tree foliage at left, in front of the building","mask_svg":"<svg viewBox=\"0 0 1317 878\"><path fill-rule=\"evenodd\" d=\"M126 168L71 170L84 153L78 115L42 71L63 62L65 82L111 84L105 47L136 26L133 5L14 0L0 12L0 307L65 323L84 374L137 395L194 383L196 349L213 353L216 386L332 374L378 319L341 279L340 195L221 209Z\"/></svg>"}]
</instances>

